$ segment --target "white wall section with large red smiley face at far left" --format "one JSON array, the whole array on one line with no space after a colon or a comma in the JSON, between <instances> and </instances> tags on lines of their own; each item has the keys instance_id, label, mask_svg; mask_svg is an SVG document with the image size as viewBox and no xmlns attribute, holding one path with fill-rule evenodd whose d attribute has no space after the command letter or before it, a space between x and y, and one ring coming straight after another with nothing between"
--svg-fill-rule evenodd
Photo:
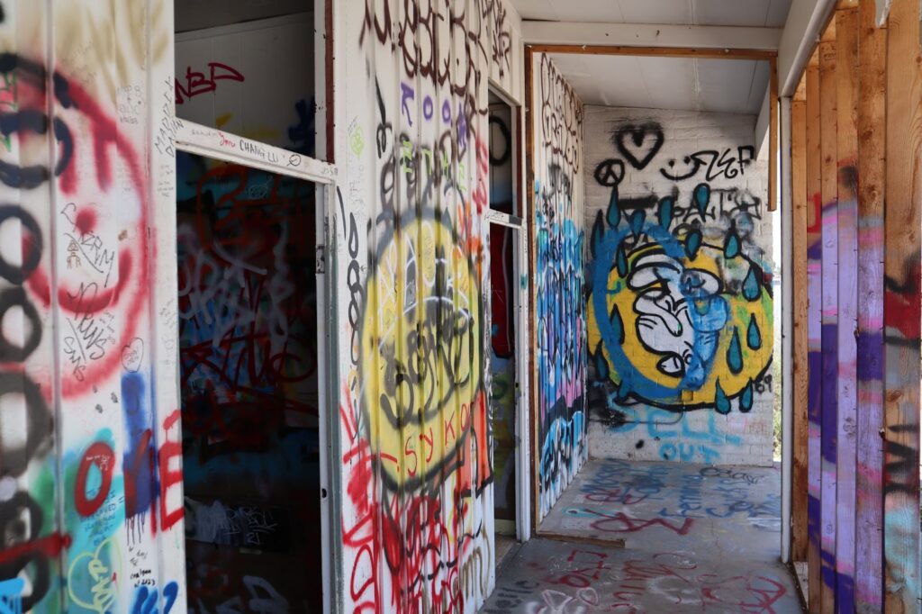
<instances>
[{"instance_id":1,"label":"white wall section with large red smiley face at far left","mask_svg":"<svg viewBox=\"0 0 922 614\"><path fill-rule=\"evenodd\" d=\"M172 3L0 3L0 610L184 611Z\"/></svg>"}]
</instances>

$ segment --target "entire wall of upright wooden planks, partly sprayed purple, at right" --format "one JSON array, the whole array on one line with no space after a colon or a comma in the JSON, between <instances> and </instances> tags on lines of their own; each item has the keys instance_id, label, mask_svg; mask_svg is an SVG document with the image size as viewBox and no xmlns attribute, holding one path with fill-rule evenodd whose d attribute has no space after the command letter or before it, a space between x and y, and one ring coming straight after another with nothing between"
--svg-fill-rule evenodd
<instances>
[{"instance_id":1,"label":"entire wall of upright wooden planks, partly sprayed purple, at right","mask_svg":"<svg viewBox=\"0 0 922 614\"><path fill-rule=\"evenodd\" d=\"M810 612L918 612L919 3L841 0L792 102L795 561Z\"/></svg>"}]
</instances>

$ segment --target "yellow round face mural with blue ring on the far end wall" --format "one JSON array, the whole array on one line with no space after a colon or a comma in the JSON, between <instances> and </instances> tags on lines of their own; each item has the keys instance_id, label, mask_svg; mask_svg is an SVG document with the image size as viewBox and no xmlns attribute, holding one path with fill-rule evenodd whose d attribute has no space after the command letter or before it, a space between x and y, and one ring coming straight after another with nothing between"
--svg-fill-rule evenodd
<instances>
[{"instance_id":1,"label":"yellow round face mural with blue ring on the far end wall","mask_svg":"<svg viewBox=\"0 0 922 614\"><path fill-rule=\"evenodd\" d=\"M727 413L739 398L749 410L753 385L772 360L773 302L762 270L710 245L679 258L648 244L626 264L611 266L587 310L590 351L618 400ZM598 313L598 291L607 313Z\"/></svg>"}]
</instances>

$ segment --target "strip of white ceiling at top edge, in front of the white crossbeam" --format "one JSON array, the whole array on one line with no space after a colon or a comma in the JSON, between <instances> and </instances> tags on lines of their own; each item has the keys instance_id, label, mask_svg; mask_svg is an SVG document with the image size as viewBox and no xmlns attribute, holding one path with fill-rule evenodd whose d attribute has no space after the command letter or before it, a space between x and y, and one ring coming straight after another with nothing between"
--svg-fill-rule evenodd
<instances>
[{"instance_id":1,"label":"strip of white ceiling at top edge, in front of the white crossbeam","mask_svg":"<svg viewBox=\"0 0 922 614\"><path fill-rule=\"evenodd\" d=\"M523 19L781 28L791 0L513 0Z\"/></svg>"}]
</instances>

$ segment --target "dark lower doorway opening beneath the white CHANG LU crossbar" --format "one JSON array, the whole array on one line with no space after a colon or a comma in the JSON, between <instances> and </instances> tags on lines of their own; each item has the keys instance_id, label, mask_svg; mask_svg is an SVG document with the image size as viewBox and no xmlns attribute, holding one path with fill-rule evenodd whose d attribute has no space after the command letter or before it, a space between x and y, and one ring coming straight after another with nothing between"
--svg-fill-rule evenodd
<instances>
[{"instance_id":1,"label":"dark lower doorway opening beneath the white CHANG LU crossbar","mask_svg":"<svg viewBox=\"0 0 922 614\"><path fill-rule=\"evenodd\" d=\"M190 612L321 611L313 183L180 152Z\"/></svg>"}]
</instances>

